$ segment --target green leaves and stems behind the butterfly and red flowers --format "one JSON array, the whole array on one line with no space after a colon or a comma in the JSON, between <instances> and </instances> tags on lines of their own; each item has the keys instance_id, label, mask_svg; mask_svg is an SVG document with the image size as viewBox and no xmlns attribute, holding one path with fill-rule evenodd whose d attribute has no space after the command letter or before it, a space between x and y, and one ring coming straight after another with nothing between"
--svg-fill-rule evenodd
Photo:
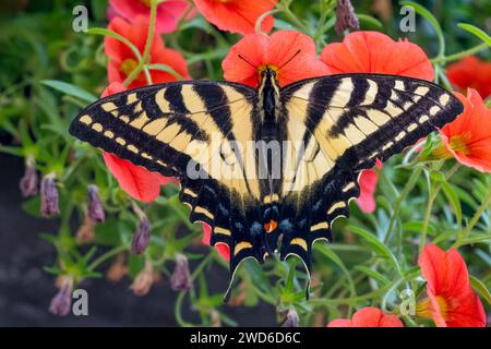
<instances>
[{"instance_id":1,"label":"green leaves and stems behind the butterfly and red flowers","mask_svg":"<svg viewBox=\"0 0 491 349\"><path fill-rule=\"evenodd\" d=\"M72 9L81 3L89 9L91 27L104 27L107 24L106 1L1 2L0 151L19 157L32 155L41 173L53 170L60 173L60 219L56 225L49 225L48 230L40 229L45 222L35 224L29 227L29 233L52 244L52 255L43 265L53 267L48 268L48 272L65 273L67 270L58 269L59 262L64 261L80 281L83 281L82 286L88 286L91 293L89 286L94 282L99 285L96 289L104 289L100 280L91 279L104 276L111 258L117 253L129 250L137 219L129 209L130 198L108 173L99 153L68 135L71 118L87 101L76 91L60 93L43 83L46 80L68 82L94 96L100 95L107 84L101 37L76 34L71 27ZM480 44L475 36L459 28L457 23L471 23L487 33L491 32L489 1L446 0L420 3L430 9L441 24L446 51L450 53ZM360 17L361 28L383 31L394 38L402 36L398 31L400 7L397 2L392 3L392 9L387 8L385 16L373 13L372 1L354 1L354 4L358 13L378 19ZM291 10L300 19L319 16L319 7L309 0L294 1ZM290 19L285 15L279 15L278 19L277 27L288 27ZM422 46L429 57L436 56L439 40L435 32L420 16L416 33L408 37ZM218 33L200 15L183 23L179 31L165 35L167 46L184 53L193 79L212 80L223 79L220 62L238 38ZM330 43L339 40L339 37L331 29L319 38L319 44L322 40ZM481 57L489 60L491 55L488 50ZM9 158L1 159L2 167L8 166ZM369 304L393 311L400 302L397 296L404 288L411 288L416 292L422 289L422 282L418 279L419 269L415 267L420 231L424 225L428 198L440 188L430 216L428 239L443 248L453 244L460 246L459 251L469 265L470 274L475 276L476 285L486 293L486 288L491 287L490 210L483 212L470 231L466 232L460 228L466 227L466 221L472 218L479 204L488 195L490 176L467 168L457 170L454 161L416 167L400 166L403 161L403 156L395 157L381 172L379 209L374 215L361 214L352 204L351 218L336 224L336 243L315 244L313 269L316 297L309 302L303 299L304 274L296 272L297 263L270 261L264 270L254 263L246 263L239 272L241 287L237 289L238 292L243 291L243 297L236 298L240 308L223 305L228 266L215 252L209 253L212 250L196 243L201 229L184 219L188 213L177 202L175 186L164 188L161 197L153 204L142 206L152 221L152 244L144 257L129 256L129 278L141 272L145 258L151 260L163 275L159 286L163 297L155 297L152 301L163 302L164 309L175 312L179 325L212 325L217 318L225 325L251 324L251 317L247 314L255 314L258 306L266 310L270 316L264 316L264 322L262 316L255 317L255 325L282 323L286 311L291 306L299 313L302 325L325 325L328 318L345 316L346 312ZM452 176L451 184L446 184L443 177L454 170L456 172ZM415 176L415 172L420 172L421 176ZM407 190L408 182L414 183L410 193ZM100 188L108 219L97 226L94 244L79 245L74 233L83 219L86 185L91 183ZM2 191L2 196L4 195L15 194ZM2 201L4 206L1 209L14 209L5 207L10 202ZM22 206L28 215L39 217L39 197L27 200ZM16 226L2 226L0 239L1 236L7 236L5 230L15 229ZM393 233L388 234L388 231ZM194 287L189 293L173 294L168 289L175 253L184 250L191 260ZM14 260L4 263L14 263ZM40 268L41 265L37 267ZM205 273L202 274L202 270ZM31 286L27 284L24 287ZM55 285L52 292L55 293ZM155 294L155 290L153 293ZM105 297L101 294L104 293L94 294L94 298ZM48 301L45 300L45 303L48 304ZM487 306L486 301L483 303ZM127 305L122 303L120 306ZM91 318L97 323L96 318ZM405 321L406 325L414 324L410 318Z\"/></svg>"}]
</instances>

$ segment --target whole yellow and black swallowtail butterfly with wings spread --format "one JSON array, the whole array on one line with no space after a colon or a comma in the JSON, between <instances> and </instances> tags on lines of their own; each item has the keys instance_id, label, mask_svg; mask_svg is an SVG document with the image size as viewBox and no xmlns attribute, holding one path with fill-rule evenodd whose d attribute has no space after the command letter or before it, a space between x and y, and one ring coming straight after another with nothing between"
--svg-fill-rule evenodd
<instances>
[{"instance_id":1,"label":"whole yellow and black swallowtail butterfly with wings spread","mask_svg":"<svg viewBox=\"0 0 491 349\"><path fill-rule=\"evenodd\" d=\"M279 87L266 67L259 80L258 88L135 88L97 100L70 125L93 146L178 178L190 220L229 248L230 285L242 261L277 252L300 257L310 277L312 244L332 241L333 221L349 216L360 172L463 111L444 88L411 77L340 74Z\"/></svg>"}]
</instances>

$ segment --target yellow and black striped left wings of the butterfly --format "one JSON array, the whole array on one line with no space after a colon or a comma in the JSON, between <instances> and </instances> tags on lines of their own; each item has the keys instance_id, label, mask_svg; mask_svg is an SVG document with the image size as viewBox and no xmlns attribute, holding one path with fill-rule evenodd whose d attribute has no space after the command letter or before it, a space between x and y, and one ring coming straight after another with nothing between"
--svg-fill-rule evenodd
<instances>
[{"instance_id":1,"label":"yellow and black striped left wings of the butterfly","mask_svg":"<svg viewBox=\"0 0 491 349\"><path fill-rule=\"evenodd\" d=\"M132 89L98 100L70 133L151 171L180 179L191 220L214 230L213 243L231 241L230 221L258 207L258 181L244 176L241 149L256 123L255 91L244 85L182 82ZM228 153L227 153L228 148ZM237 148L237 146L236 146ZM247 170L254 171L249 163ZM231 217L235 217L233 219ZM242 245L243 246L243 245Z\"/></svg>"}]
</instances>

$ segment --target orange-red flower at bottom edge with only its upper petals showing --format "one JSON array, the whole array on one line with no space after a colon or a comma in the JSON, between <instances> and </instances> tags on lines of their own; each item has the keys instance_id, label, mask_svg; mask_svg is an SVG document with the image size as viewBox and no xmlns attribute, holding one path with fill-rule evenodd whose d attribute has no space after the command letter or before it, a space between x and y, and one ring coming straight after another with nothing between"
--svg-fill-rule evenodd
<instances>
[{"instance_id":1,"label":"orange-red flower at bottom edge with only its upper petals showing","mask_svg":"<svg viewBox=\"0 0 491 349\"><path fill-rule=\"evenodd\" d=\"M404 324L396 315L387 315L378 308L367 306L357 311L351 320L336 318L327 327L404 327Z\"/></svg>"}]
</instances>

